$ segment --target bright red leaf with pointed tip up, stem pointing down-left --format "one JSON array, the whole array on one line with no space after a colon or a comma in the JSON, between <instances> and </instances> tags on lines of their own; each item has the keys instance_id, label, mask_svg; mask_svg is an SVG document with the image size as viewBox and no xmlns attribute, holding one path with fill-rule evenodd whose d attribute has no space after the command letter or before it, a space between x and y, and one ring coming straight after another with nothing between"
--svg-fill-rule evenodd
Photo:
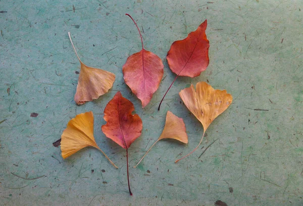
<instances>
[{"instance_id":1,"label":"bright red leaf with pointed tip up, stem pointing down-left","mask_svg":"<svg viewBox=\"0 0 303 206\"><path fill-rule=\"evenodd\" d=\"M167 53L166 59L173 73L177 76L164 94L164 100L167 92L179 76L197 77L205 71L209 64L208 50L210 47L209 40L206 37L207 20L200 24L197 30L190 32L188 36L179 41L175 41Z\"/></svg>"}]
</instances>

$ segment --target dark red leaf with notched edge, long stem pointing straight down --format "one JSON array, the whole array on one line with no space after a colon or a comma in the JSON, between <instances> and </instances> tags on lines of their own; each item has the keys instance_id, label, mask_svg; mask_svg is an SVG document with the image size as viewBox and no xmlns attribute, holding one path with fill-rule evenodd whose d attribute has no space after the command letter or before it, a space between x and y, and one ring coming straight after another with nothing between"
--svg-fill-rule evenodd
<instances>
[{"instance_id":1,"label":"dark red leaf with notched edge, long stem pointing straight down","mask_svg":"<svg viewBox=\"0 0 303 206\"><path fill-rule=\"evenodd\" d=\"M102 131L115 143L126 149L127 180L130 195L129 174L128 174L128 148L141 135L142 120L139 115L131 113L134 105L117 92L114 98L104 109L104 120Z\"/></svg>"}]
</instances>

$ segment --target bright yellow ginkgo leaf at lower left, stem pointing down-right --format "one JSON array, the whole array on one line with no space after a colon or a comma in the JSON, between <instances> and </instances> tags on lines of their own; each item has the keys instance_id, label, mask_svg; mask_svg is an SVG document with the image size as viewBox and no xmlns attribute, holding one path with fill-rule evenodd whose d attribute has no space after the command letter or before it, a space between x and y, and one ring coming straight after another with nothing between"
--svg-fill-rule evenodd
<instances>
[{"instance_id":1,"label":"bright yellow ginkgo leaf at lower left, stem pointing down-right","mask_svg":"<svg viewBox=\"0 0 303 206\"><path fill-rule=\"evenodd\" d=\"M58 144L58 141L55 143ZM66 129L61 135L61 152L62 157L68 158L79 150L85 147L94 147L104 154L104 156L118 168L109 157L97 146L93 136L93 114L92 112L85 112L76 115L71 119Z\"/></svg>"}]
</instances>

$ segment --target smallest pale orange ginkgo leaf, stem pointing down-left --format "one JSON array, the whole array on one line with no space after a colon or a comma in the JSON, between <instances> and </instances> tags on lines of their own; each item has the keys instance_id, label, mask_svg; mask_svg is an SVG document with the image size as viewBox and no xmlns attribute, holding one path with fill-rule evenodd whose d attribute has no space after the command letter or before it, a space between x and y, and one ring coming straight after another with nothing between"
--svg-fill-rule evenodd
<instances>
[{"instance_id":1,"label":"smallest pale orange ginkgo leaf, stem pointing down-left","mask_svg":"<svg viewBox=\"0 0 303 206\"><path fill-rule=\"evenodd\" d=\"M147 153L150 151L150 149L152 147L154 147L154 145L158 141L163 140L163 139L174 139L174 140L178 140L185 144L188 143L188 137L186 134L186 128L185 128L183 119L180 117L177 117L170 111L168 111L166 114L165 126L164 126L164 129L163 129L159 139L147 150L147 152L141 158L141 160L138 162L138 164L140 164L140 162L147 155ZM138 164L136 166L134 166L134 168L137 167Z\"/></svg>"}]
</instances>

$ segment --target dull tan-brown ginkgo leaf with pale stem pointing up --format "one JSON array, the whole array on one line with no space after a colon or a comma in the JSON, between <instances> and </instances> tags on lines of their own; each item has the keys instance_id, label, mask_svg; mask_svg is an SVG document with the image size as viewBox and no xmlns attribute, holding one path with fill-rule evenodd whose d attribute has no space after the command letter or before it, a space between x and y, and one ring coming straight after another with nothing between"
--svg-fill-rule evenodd
<instances>
[{"instance_id":1,"label":"dull tan-brown ginkgo leaf with pale stem pointing up","mask_svg":"<svg viewBox=\"0 0 303 206\"><path fill-rule=\"evenodd\" d=\"M77 54L70 32L68 36L80 61L80 74L74 100L76 104L81 105L107 93L113 87L116 76L111 72L85 65Z\"/></svg>"}]
</instances>

